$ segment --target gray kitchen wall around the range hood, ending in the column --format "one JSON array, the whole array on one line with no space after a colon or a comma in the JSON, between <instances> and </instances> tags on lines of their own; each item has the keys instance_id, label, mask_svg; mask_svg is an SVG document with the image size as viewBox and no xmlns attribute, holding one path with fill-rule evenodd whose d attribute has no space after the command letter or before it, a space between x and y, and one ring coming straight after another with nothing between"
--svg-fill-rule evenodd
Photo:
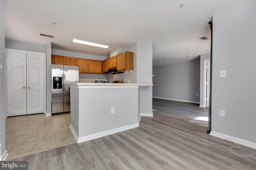
<instances>
[{"instance_id":1,"label":"gray kitchen wall around the range hood, ending in the column","mask_svg":"<svg viewBox=\"0 0 256 170\"><path fill-rule=\"evenodd\" d=\"M152 41L137 42L123 49L134 53L134 70L126 74L107 75L108 81L127 81L130 83L152 83ZM120 49L110 52L114 56ZM152 114L152 86L139 88L139 113Z\"/></svg>"}]
</instances>

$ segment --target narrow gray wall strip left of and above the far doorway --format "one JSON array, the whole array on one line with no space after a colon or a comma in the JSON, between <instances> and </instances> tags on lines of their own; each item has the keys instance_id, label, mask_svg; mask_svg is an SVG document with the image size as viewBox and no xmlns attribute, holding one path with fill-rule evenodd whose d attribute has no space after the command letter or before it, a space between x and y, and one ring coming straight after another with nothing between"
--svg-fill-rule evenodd
<instances>
[{"instance_id":1,"label":"narrow gray wall strip left of and above the far doorway","mask_svg":"<svg viewBox=\"0 0 256 170\"><path fill-rule=\"evenodd\" d=\"M200 55L200 106L204 105L204 61L210 60L211 54Z\"/></svg>"}]
</instances>

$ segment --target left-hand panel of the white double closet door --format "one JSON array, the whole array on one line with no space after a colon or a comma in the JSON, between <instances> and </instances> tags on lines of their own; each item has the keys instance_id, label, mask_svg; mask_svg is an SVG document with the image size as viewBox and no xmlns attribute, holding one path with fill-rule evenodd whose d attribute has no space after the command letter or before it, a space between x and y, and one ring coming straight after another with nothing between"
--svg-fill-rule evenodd
<instances>
[{"instance_id":1,"label":"left-hand panel of the white double closet door","mask_svg":"<svg viewBox=\"0 0 256 170\"><path fill-rule=\"evenodd\" d=\"M7 115L26 115L26 53L7 51Z\"/></svg>"}]
</instances>

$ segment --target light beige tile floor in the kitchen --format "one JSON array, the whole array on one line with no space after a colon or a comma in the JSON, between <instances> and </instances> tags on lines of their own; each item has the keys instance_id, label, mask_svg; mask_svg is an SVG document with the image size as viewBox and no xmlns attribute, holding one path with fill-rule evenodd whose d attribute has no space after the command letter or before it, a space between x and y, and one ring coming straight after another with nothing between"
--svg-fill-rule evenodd
<instances>
[{"instance_id":1,"label":"light beige tile floor in the kitchen","mask_svg":"<svg viewBox=\"0 0 256 170\"><path fill-rule=\"evenodd\" d=\"M6 160L76 143L69 125L70 113L7 117Z\"/></svg>"}]
</instances>

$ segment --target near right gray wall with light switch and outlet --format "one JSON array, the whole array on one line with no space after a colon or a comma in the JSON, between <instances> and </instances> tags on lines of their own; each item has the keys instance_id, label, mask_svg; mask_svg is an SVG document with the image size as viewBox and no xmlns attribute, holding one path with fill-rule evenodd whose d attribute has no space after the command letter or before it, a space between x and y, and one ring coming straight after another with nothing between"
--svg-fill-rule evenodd
<instances>
[{"instance_id":1,"label":"near right gray wall with light switch and outlet","mask_svg":"<svg viewBox=\"0 0 256 170\"><path fill-rule=\"evenodd\" d=\"M212 131L256 143L256 1L213 16ZM226 77L220 77L226 70ZM219 110L225 110L225 117Z\"/></svg>"}]
</instances>

